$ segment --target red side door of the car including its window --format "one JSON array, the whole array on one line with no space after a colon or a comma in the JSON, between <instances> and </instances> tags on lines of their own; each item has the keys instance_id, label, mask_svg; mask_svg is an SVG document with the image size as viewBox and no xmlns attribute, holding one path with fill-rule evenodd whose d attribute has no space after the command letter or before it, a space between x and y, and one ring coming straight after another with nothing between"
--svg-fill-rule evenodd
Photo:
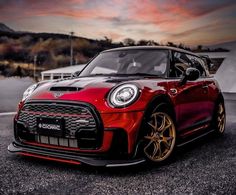
<instances>
[{"instance_id":1,"label":"red side door of the car including its window","mask_svg":"<svg viewBox=\"0 0 236 195\"><path fill-rule=\"evenodd\" d=\"M176 105L176 125L179 135L186 137L200 130L209 121L208 87L204 78L204 70L196 81L187 81L181 85L180 80L187 68L195 67L194 56L174 51L170 67L169 91ZM196 59L195 59L196 60ZM196 68L196 67L195 67Z\"/></svg>"}]
</instances>

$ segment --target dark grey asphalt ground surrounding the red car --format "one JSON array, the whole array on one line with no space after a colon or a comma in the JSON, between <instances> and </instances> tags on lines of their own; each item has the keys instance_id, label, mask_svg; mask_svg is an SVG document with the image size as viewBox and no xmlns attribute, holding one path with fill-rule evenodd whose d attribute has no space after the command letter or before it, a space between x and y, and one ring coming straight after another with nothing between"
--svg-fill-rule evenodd
<instances>
[{"instance_id":1,"label":"dark grey asphalt ground surrounding the red car","mask_svg":"<svg viewBox=\"0 0 236 195\"><path fill-rule=\"evenodd\" d=\"M13 116L0 116L0 194L236 194L235 105L227 102L223 137L210 135L182 147L162 166L129 168L71 166L8 154Z\"/></svg>"}]
</instances>

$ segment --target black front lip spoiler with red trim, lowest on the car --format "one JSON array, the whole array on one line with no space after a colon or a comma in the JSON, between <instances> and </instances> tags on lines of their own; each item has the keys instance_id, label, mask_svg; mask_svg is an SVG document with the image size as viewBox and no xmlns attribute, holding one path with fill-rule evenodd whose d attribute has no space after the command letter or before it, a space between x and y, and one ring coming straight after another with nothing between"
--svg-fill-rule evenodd
<instances>
[{"instance_id":1,"label":"black front lip spoiler with red trim, lowest on the car","mask_svg":"<svg viewBox=\"0 0 236 195\"><path fill-rule=\"evenodd\" d=\"M29 145L23 145L18 142L12 142L8 146L8 151L15 154L32 154L34 157L38 158L46 158L50 160L62 161L67 160L77 162L78 164L86 164L90 166L98 166L98 167L124 167L124 166L133 166L144 163L146 160L144 158L140 159L131 159L131 160L104 160L97 159L94 157L84 157L72 154L66 154L64 152L52 151L52 150L41 150L37 147L31 147ZM75 164L75 163L72 163Z\"/></svg>"}]
</instances>

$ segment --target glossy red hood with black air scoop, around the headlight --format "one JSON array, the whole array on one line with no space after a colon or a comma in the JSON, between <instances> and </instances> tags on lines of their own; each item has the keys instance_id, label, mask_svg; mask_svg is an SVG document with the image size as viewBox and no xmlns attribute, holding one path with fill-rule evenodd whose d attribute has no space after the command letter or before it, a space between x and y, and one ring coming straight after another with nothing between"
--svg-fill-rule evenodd
<instances>
[{"instance_id":1,"label":"glossy red hood with black air scoop, around the headlight","mask_svg":"<svg viewBox=\"0 0 236 195\"><path fill-rule=\"evenodd\" d=\"M121 112L107 104L107 95L111 89L119 84L132 83L142 91L140 98L151 98L156 90L164 91L166 81L160 78L144 78L137 76L114 77L93 76L78 77L64 80L42 82L31 94L27 101L76 101L93 105L101 113ZM163 92L162 92L163 93ZM148 102L148 101L147 101ZM143 110L143 101L125 109Z\"/></svg>"}]
</instances>

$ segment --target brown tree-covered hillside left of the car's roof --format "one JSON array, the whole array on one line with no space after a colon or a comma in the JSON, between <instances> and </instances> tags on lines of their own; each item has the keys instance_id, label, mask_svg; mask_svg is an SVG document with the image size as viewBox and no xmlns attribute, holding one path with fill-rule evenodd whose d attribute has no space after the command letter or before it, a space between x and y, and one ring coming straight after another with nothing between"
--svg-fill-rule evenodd
<instances>
[{"instance_id":1,"label":"brown tree-covered hillside left of the car's roof","mask_svg":"<svg viewBox=\"0 0 236 195\"><path fill-rule=\"evenodd\" d=\"M104 49L123 46L122 43L112 43L107 38L92 40L74 36L72 40L74 64L86 63ZM10 72L12 75L19 66L20 69L24 69L26 75L29 75L32 73L35 58L38 70L68 66L70 64L69 35L18 32L0 24L0 74L5 75L7 72L7 76Z\"/></svg>"}]
</instances>

